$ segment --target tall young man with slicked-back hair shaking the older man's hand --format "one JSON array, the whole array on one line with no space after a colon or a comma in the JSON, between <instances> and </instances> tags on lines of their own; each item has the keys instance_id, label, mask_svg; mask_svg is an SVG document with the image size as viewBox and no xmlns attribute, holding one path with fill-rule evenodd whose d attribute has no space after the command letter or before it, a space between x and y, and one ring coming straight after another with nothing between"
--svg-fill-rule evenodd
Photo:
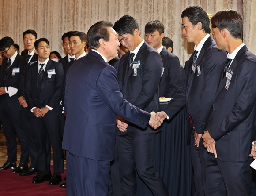
<instances>
[{"instance_id":1,"label":"tall young man with slicked-back hair shaking the older man's hand","mask_svg":"<svg viewBox=\"0 0 256 196\"><path fill-rule=\"evenodd\" d=\"M186 104L188 144L191 144L191 159L197 196L204 196L202 181L204 125L213 103L218 86L222 62L226 52L218 47L210 36L209 18L201 7L188 7L182 14L182 34L188 42L195 44L195 51L185 63L186 84L163 109L165 117L170 119ZM195 135L195 136L194 136ZM199 147L199 148L198 148Z\"/></svg>"}]
</instances>

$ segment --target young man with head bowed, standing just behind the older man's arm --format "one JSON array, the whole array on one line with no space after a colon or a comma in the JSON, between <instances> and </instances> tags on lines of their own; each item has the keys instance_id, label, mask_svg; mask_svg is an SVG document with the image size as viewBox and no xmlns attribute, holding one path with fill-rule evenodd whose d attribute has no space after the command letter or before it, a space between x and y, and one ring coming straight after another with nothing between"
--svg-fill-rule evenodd
<instances>
[{"instance_id":1,"label":"young man with head bowed, standing just behind the older man's arm","mask_svg":"<svg viewBox=\"0 0 256 196\"><path fill-rule=\"evenodd\" d=\"M113 27L118 40L130 52L120 59L118 83L124 98L145 111L159 109L158 86L162 60L158 52L139 35L135 18L125 15ZM159 130L140 128L117 116L117 149L122 195L136 195L136 171L154 195L168 195L165 184L153 167L155 134Z\"/></svg>"}]
</instances>

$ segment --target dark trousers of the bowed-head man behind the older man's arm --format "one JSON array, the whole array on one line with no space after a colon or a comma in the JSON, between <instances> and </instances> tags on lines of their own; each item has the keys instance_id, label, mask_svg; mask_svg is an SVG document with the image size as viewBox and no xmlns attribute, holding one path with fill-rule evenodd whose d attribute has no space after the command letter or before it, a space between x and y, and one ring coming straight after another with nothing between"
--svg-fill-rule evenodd
<instances>
[{"instance_id":1,"label":"dark trousers of the bowed-head man behind the older man's arm","mask_svg":"<svg viewBox=\"0 0 256 196\"><path fill-rule=\"evenodd\" d=\"M122 196L136 196L136 171L154 196L168 196L162 179L153 167L155 133L117 132Z\"/></svg>"}]
</instances>

